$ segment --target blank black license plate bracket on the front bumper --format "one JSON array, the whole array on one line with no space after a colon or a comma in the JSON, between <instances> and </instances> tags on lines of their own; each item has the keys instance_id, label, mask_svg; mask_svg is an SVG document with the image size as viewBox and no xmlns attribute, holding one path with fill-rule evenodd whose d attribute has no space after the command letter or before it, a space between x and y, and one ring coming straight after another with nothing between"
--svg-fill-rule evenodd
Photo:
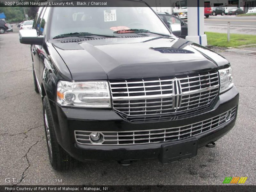
<instances>
[{"instance_id":1,"label":"blank black license plate bracket on the front bumper","mask_svg":"<svg viewBox=\"0 0 256 192\"><path fill-rule=\"evenodd\" d=\"M163 164L180 161L197 155L198 140L166 143L161 146L159 161Z\"/></svg>"}]
</instances>

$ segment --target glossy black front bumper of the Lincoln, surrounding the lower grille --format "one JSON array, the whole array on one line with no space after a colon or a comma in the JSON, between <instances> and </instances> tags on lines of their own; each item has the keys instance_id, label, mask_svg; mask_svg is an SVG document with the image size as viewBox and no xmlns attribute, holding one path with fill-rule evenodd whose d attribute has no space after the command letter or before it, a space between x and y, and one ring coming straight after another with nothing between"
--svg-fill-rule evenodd
<instances>
[{"instance_id":1,"label":"glossy black front bumper of the Lincoln, surrounding the lower grille","mask_svg":"<svg viewBox=\"0 0 256 192\"><path fill-rule=\"evenodd\" d=\"M57 140L61 147L64 148L71 156L79 161L121 161L158 158L161 145L163 143L182 143L191 138L198 140L198 148L203 147L220 139L230 131L235 125L236 115L227 124L223 124L218 128L211 129L193 137L160 143L139 145L82 145L76 143L74 131L120 132L185 126L218 116L238 106L238 100L239 93L234 86L227 92L221 94L213 109L207 113L181 120L152 123L130 123L125 121L113 110L62 108L53 101L50 101L50 104Z\"/></svg>"}]
</instances>

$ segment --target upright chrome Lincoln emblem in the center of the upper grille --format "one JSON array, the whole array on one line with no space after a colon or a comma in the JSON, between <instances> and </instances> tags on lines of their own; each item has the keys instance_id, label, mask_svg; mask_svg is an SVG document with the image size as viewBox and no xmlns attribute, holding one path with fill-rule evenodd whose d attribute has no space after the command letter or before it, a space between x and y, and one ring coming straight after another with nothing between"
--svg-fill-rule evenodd
<instances>
[{"instance_id":1,"label":"upright chrome Lincoln emblem in the center of the upper grille","mask_svg":"<svg viewBox=\"0 0 256 192\"><path fill-rule=\"evenodd\" d=\"M180 79L172 79L172 108L178 109L181 105L182 90Z\"/></svg>"}]
</instances>

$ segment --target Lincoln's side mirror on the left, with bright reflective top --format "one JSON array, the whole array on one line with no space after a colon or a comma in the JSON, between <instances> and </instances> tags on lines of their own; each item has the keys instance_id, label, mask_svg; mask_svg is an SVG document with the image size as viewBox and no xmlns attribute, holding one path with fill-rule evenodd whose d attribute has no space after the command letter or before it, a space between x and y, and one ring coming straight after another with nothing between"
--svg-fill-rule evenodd
<instances>
[{"instance_id":1,"label":"Lincoln's side mirror on the left, with bright reflective top","mask_svg":"<svg viewBox=\"0 0 256 192\"><path fill-rule=\"evenodd\" d=\"M20 43L30 45L42 45L44 36L37 36L36 29L20 29Z\"/></svg>"}]
</instances>

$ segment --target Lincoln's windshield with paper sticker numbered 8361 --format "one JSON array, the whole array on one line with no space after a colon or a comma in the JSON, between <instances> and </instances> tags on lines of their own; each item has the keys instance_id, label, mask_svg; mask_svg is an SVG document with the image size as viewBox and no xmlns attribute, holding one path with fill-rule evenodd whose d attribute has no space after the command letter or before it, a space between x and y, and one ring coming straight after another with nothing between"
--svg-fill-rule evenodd
<instances>
[{"instance_id":1,"label":"Lincoln's windshield with paper sticker numbered 8361","mask_svg":"<svg viewBox=\"0 0 256 192\"><path fill-rule=\"evenodd\" d=\"M122 1L134 7L54 7L50 36L69 33L92 33L113 36L116 31L142 29L171 35L162 21L144 3ZM142 33L142 31L140 31ZM134 31L134 33L140 33ZM119 34L121 36L122 34ZM123 34L124 36L127 34Z\"/></svg>"}]
</instances>

